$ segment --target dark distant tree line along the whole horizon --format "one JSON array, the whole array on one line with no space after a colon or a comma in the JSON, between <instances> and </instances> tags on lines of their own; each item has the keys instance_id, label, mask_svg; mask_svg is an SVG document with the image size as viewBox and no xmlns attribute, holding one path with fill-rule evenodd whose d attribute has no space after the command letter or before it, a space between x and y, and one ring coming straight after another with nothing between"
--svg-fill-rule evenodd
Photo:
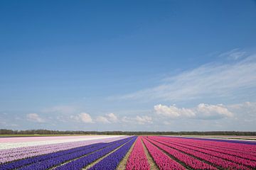
<instances>
[{"instance_id":1,"label":"dark distant tree line along the whole horizon","mask_svg":"<svg viewBox=\"0 0 256 170\"><path fill-rule=\"evenodd\" d=\"M256 132L209 131L209 132L128 132L128 131L59 131L59 130L6 130L0 135L256 135Z\"/></svg>"}]
</instances>

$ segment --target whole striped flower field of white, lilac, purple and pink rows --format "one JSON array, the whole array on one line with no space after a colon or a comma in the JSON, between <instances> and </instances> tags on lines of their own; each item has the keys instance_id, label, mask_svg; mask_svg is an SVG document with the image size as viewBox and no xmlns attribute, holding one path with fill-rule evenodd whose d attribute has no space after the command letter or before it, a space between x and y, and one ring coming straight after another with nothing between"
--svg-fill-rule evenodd
<instances>
[{"instance_id":1,"label":"whole striped flower field of white, lilac, purple and pink rows","mask_svg":"<svg viewBox=\"0 0 256 170\"><path fill-rule=\"evenodd\" d=\"M256 169L256 142L146 135L1 137L0 169Z\"/></svg>"}]
</instances>

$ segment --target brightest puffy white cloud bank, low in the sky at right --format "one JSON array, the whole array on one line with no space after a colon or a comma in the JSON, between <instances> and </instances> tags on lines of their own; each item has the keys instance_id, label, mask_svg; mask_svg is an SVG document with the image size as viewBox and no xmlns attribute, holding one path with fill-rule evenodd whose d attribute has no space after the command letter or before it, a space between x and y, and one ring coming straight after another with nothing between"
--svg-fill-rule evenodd
<instances>
[{"instance_id":1,"label":"brightest puffy white cloud bank, low in the sky at right","mask_svg":"<svg viewBox=\"0 0 256 170\"><path fill-rule=\"evenodd\" d=\"M154 106L156 114L163 115L169 118L198 118L198 119L220 119L231 118L233 113L228 111L228 108L219 105L208 105L200 103L195 108L178 108L176 106Z\"/></svg>"}]
</instances>

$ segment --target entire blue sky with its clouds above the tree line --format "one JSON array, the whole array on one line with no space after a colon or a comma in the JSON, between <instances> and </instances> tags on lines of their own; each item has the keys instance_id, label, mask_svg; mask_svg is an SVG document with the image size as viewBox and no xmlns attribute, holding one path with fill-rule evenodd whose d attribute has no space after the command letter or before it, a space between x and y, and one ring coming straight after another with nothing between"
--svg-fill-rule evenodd
<instances>
[{"instance_id":1,"label":"entire blue sky with its clouds above the tree line","mask_svg":"<svg viewBox=\"0 0 256 170\"><path fill-rule=\"evenodd\" d=\"M255 1L1 1L0 128L255 130Z\"/></svg>"}]
</instances>

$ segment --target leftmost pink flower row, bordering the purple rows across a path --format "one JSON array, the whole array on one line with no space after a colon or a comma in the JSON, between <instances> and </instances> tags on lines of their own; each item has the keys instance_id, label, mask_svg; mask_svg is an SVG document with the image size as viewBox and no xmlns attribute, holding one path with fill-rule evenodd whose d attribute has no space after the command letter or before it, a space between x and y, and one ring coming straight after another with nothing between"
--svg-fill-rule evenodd
<instances>
[{"instance_id":1,"label":"leftmost pink flower row, bordering the purple rows across a path","mask_svg":"<svg viewBox=\"0 0 256 170\"><path fill-rule=\"evenodd\" d=\"M135 142L134 148L132 149L129 159L127 160L127 170L149 170L149 162L146 159L146 154L142 145L142 137L138 137Z\"/></svg>"}]
</instances>

